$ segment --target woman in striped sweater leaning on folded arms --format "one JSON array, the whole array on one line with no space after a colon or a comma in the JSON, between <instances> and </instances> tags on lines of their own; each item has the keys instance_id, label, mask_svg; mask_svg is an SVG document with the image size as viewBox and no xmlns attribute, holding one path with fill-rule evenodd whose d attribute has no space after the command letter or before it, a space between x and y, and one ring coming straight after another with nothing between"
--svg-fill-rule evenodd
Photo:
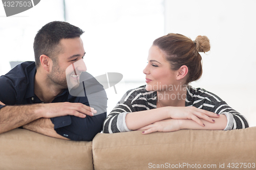
<instances>
[{"instance_id":1,"label":"woman in striped sweater leaning on folded arms","mask_svg":"<svg viewBox=\"0 0 256 170\"><path fill-rule=\"evenodd\" d=\"M202 75L199 52L209 50L206 36L195 41L173 33L157 38L143 70L146 85L126 92L104 120L103 133L247 128L246 118L217 95L188 85Z\"/></svg>"}]
</instances>

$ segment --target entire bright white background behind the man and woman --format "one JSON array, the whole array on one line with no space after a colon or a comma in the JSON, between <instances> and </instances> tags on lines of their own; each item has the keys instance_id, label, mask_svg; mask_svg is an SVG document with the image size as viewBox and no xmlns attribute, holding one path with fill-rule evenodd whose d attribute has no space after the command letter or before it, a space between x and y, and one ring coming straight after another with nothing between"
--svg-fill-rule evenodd
<instances>
[{"instance_id":1,"label":"entire bright white background behind the man and woman","mask_svg":"<svg viewBox=\"0 0 256 170\"><path fill-rule=\"evenodd\" d=\"M120 72L108 93L108 113L125 91L145 84L142 70L152 42L167 33L195 39L206 35L211 51L202 54L203 76L192 83L214 92L256 126L256 1L66 0L66 21L85 33L84 61L93 76ZM0 75L10 61L34 61L36 32L64 20L62 0L41 0L34 8L6 17L0 4Z\"/></svg>"}]
</instances>

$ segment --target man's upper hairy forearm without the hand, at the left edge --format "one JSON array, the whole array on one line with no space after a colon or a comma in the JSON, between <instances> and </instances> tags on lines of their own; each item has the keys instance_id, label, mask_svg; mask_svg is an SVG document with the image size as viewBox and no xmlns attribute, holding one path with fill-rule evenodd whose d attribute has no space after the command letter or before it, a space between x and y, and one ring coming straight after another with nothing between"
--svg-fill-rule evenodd
<instances>
[{"instance_id":1,"label":"man's upper hairy forearm without the hand, at the left edge","mask_svg":"<svg viewBox=\"0 0 256 170\"><path fill-rule=\"evenodd\" d=\"M35 105L5 106L0 110L0 133L10 131L26 125L41 115L36 111L40 107Z\"/></svg>"}]
</instances>

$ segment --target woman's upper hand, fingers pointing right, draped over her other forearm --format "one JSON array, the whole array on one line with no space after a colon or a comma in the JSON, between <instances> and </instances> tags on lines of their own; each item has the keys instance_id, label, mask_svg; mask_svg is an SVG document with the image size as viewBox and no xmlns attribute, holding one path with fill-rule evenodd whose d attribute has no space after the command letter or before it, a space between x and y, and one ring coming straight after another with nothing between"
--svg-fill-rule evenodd
<instances>
[{"instance_id":1,"label":"woman's upper hand, fingers pointing right, draped over her other forearm","mask_svg":"<svg viewBox=\"0 0 256 170\"><path fill-rule=\"evenodd\" d=\"M209 112L207 110L198 109L194 106L192 107L168 107L167 114L173 119L192 119L202 127L205 125L199 119L202 118L210 123L215 123L215 120L210 117L219 117L219 114Z\"/></svg>"}]
</instances>

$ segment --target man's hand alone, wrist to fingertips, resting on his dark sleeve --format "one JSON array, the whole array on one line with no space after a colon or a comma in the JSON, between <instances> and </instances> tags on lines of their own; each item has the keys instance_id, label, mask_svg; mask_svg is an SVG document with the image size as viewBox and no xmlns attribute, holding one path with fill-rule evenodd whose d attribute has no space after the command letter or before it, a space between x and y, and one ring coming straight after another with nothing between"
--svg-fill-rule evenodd
<instances>
[{"instance_id":1,"label":"man's hand alone, wrist to fingertips, resting on his dark sleeve","mask_svg":"<svg viewBox=\"0 0 256 170\"><path fill-rule=\"evenodd\" d=\"M41 104L41 117L52 118L58 116L74 115L84 118L86 115L93 116L97 113L94 108L81 103L49 103Z\"/></svg>"}]
</instances>

